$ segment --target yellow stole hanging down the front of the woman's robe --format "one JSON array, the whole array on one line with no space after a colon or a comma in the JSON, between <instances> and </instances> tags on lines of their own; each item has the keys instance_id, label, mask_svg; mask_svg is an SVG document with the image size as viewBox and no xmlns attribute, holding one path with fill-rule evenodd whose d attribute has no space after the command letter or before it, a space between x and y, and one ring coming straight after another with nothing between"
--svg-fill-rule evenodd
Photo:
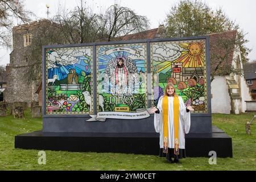
<instances>
[{"instance_id":1,"label":"yellow stole hanging down the front of the woman's robe","mask_svg":"<svg viewBox=\"0 0 256 182\"><path fill-rule=\"evenodd\" d=\"M163 97L163 152L168 153L168 96ZM174 154L179 155L179 98L174 96Z\"/></svg>"}]
</instances>

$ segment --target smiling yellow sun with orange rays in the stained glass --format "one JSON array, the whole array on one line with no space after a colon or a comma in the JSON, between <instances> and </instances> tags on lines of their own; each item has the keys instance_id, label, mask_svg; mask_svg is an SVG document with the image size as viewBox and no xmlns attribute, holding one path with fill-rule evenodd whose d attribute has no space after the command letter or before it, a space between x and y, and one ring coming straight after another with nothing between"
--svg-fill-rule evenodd
<instances>
[{"instance_id":1,"label":"smiling yellow sun with orange rays in the stained glass","mask_svg":"<svg viewBox=\"0 0 256 182\"><path fill-rule=\"evenodd\" d=\"M182 63L183 68L204 67L203 42L180 43L179 46L185 50L174 63Z\"/></svg>"}]
</instances>

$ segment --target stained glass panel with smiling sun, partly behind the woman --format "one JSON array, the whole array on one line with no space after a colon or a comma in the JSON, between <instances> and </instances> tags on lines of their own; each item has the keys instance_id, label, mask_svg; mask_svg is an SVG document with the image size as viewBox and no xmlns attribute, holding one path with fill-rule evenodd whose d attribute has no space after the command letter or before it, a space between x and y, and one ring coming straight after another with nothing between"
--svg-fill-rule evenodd
<instances>
[{"instance_id":1,"label":"stained glass panel with smiling sun, partly behind the woman","mask_svg":"<svg viewBox=\"0 0 256 182\"><path fill-rule=\"evenodd\" d=\"M205 40L155 42L150 47L154 105L172 82L185 105L194 106L197 113L207 113Z\"/></svg>"}]
</instances>

